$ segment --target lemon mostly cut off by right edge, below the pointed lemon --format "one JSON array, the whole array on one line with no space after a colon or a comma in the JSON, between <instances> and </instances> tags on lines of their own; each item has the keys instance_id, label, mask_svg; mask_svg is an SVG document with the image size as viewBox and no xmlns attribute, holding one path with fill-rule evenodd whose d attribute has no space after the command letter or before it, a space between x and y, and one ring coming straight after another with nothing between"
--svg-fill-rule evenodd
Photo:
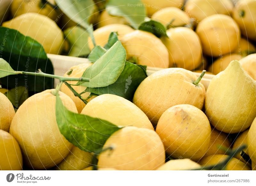
<instances>
[{"instance_id":1,"label":"lemon mostly cut off by right edge, below the pointed lemon","mask_svg":"<svg viewBox=\"0 0 256 186\"><path fill-rule=\"evenodd\" d=\"M256 119L253 120L252 125L247 133L247 141L246 144L248 145L247 152L252 160L252 168L256 169Z\"/></svg>"}]
</instances>

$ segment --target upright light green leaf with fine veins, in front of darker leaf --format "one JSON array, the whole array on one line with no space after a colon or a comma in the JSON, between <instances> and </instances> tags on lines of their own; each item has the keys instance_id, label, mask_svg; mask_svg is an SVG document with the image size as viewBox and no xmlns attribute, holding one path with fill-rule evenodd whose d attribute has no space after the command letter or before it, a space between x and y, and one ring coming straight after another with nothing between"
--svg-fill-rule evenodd
<instances>
[{"instance_id":1,"label":"upright light green leaf with fine veins, in front of darker leaf","mask_svg":"<svg viewBox=\"0 0 256 186\"><path fill-rule=\"evenodd\" d=\"M79 81L76 85L86 87L108 86L117 80L124 69L126 51L120 41L117 41L92 66L84 71L83 78L90 78L90 82Z\"/></svg>"}]
</instances>

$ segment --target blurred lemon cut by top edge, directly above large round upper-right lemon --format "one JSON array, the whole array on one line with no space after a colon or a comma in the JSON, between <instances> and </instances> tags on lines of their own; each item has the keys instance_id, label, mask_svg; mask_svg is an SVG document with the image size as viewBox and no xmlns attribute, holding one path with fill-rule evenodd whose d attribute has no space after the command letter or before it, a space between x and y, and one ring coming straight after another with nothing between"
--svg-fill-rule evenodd
<instances>
[{"instance_id":1,"label":"blurred lemon cut by top edge, directly above large round upper-right lemon","mask_svg":"<svg viewBox=\"0 0 256 186\"><path fill-rule=\"evenodd\" d=\"M230 0L188 0L185 12L199 23L213 14L230 15L234 5Z\"/></svg>"}]
</instances>

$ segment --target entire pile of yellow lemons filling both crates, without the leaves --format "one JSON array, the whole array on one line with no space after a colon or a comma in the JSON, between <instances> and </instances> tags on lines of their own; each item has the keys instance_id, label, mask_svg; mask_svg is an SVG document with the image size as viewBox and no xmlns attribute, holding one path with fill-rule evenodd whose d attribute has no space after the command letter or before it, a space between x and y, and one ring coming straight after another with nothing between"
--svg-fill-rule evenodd
<instances>
[{"instance_id":1,"label":"entire pile of yellow lemons filling both crates, without the leaves","mask_svg":"<svg viewBox=\"0 0 256 186\"><path fill-rule=\"evenodd\" d=\"M60 54L64 39L53 21L56 15L50 14L54 10L30 8L23 14L14 2L15 18L3 26L35 38L46 52ZM125 126L103 147L112 149L97 156L99 170L199 169L221 162L243 144L251 163L237 154L226 169L256 170L256 54L251 54L256 51L256 1L142 2L148 17L168 28L168 37L134 30L123 17L101 11L92 20L99 27L96 44L104 46L109 34L117 32L128 61L165 69L142 81L133 102L103 94L85 105L66 85L61 87L60 98L70 111ZM90 38L88 44L92 49ZM81 77L90 65L74 66L65 76ZM207 90L192 72L202 69L217 74ZM61 135L52 90L31 96L16 113L1 93L0 98L0 169L92 170L92 153Z\"/></svg>"}]
</instances>

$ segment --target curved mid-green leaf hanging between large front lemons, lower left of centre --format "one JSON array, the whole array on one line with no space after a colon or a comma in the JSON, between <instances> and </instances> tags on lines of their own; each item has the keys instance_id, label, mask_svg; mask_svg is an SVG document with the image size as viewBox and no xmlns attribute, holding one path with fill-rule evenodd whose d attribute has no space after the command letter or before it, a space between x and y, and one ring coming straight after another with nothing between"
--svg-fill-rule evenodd
<instances>
[{"instance_id":1,"label":"curved mid-green leaf hanging between large front lemons, lower left of centre","mask_svg":"<svg viewBox=\"0 0 256 186\"><path fill-rule=\"evenodd\" d=\"M56 96L56 121L60 132L83 151L95 152L102 149L107 139L122 128L106 120L73 113L65 108L60 96Z\"/></svg>"}]
</instances>

